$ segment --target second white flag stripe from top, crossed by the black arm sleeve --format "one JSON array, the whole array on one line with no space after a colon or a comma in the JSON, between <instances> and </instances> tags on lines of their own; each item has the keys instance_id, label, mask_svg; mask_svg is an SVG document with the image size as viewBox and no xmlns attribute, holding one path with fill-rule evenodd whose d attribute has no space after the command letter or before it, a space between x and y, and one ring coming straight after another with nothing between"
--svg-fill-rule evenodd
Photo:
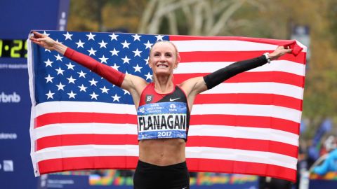
<instances>
[{"instance_id":1,"label":"second white flag stripe from top, crossed by the black arm sleeve","mask_svg":"<svg viewBox=\"0 0 337 189\"><path fill-rule=\"evenodd\" d=\"M222 69L234 62L188 62L181 63L174 70L174 73L212 73L218 69ZM305 65L298 64L287 60L272 61L271 64L265 64L248 72L256 71L282 71L286 73L293 73L298 76L305 76Z\"/></svg>"}]
</instances>

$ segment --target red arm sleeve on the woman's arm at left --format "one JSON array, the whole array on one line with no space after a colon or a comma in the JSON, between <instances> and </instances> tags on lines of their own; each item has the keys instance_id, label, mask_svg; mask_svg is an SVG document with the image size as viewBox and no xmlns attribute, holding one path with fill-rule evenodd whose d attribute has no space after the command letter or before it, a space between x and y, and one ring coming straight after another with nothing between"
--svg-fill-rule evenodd
<instances>
[{"instance_id":1,"label":"red arm sleeve on the woman's arm at left","mask_svg":"<svg viewBox=\"0 0 337 189\"><path fill-rule=\"evenodd\" d=\"M67 50L65 50L65 57L85 66L114 85L121 87L121 83L123 83L125 73L121 73L106 64L102 64L88 55L72 50L72 48L67 48Z\"/></svg>"}]
</instances>

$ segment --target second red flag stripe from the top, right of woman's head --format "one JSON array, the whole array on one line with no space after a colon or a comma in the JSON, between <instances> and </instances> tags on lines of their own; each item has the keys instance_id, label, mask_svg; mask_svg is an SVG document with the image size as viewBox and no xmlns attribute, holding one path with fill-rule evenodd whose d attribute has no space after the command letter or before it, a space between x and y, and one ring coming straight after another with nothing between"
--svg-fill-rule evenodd
<instances>
[{"instance_id":1,"label":"second red flag stripe from the top, right of woman's head","mask_svg":"<svg viewBox=\"0 0 337 189\"><path fill-rule=\"evenodd\" d=\"M237 62L244 59L259 57L265 52L272 51L197 51L179 52L180 62ZM299 64L305 64L305 52L300 52L297 56L286 54L278 60L289 60Z\"/></svg>"}]
</instances>

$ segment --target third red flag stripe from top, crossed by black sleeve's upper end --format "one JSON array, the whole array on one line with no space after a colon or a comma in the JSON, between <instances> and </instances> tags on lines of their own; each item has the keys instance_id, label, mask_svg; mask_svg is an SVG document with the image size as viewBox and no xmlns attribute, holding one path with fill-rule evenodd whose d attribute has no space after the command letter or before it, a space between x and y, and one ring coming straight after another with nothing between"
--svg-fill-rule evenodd
<instances>
[{"instance_id":1,"label":"third red flag stripe from top, crossed by black sleeve's upper end","mask_svg":"<svg viewBox=\"0 0 337 189\"><path fill-rule=\"evenodd\" d=\"M209 73L177 73L174 75L175 83L183 83L185 80L194 77L203 77ZM282 71L260 71L243 72L232 78L225 80L224 83L255 83L255 82L275 82L304 87L304 76Z\"/></svg>"}]
</instances>

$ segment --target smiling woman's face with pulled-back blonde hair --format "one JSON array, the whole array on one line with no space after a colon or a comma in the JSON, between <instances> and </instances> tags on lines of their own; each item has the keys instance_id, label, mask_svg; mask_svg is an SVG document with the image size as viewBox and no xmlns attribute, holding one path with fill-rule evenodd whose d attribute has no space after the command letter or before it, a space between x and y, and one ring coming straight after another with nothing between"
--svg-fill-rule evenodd
<instances>
[{"instance_id":1,"label":"smiling woman's face with pulled-back blonde hair","mask_svg":"<svg viewBox=\"0 0 337 189\"><path fill-rule=\"evenodd\" d=\"M165 41L157 42L150 51L149 66L155 75L173 74L178 66L177 51L173 44Z\"/></svg>"}]
</instances>

